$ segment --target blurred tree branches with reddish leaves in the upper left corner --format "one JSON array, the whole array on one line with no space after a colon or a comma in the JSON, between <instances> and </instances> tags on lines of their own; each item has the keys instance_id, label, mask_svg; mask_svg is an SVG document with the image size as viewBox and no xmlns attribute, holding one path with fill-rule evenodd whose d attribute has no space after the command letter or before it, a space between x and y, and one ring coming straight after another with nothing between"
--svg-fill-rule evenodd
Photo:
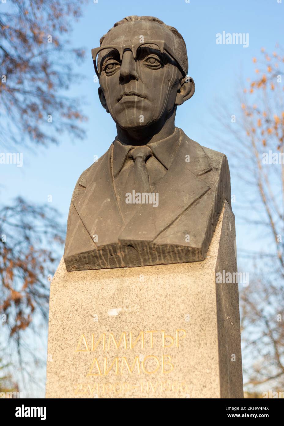
<instances>
[{"instance_id":1,"label":"blurred tree branches with reddish leaves in the upper left corner","mask_svg":"<svg viewBox=\"0 0 284 426\"><path fill-rule=\"evenodd\" d=\"M84 50L71 49L68 33L83 0L10 0L0 12L0 144L57 143L82 138L78 99L66 95ZM4 8L5 6L5 8ZM66 60L67 59L67 60ZM52 125L48 122L52 116ZM27 138L28 137L28 138Z\"/></svg>"}]
</instances>

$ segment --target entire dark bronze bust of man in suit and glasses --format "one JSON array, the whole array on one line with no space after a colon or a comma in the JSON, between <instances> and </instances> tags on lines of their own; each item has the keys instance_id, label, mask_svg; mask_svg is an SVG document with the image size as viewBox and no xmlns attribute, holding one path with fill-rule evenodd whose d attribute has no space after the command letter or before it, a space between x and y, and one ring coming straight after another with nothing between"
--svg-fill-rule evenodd
<instances>
[{"instance_id":1,"label":"entire dark bronze bust of man in suit and glasses","mask_svg":"<svg viewBox=\"0 0 284 426\"><path fill-rule=\"evenodd\" d=\"M195 86L185 41L161 20L130 16L92 50L117 136L80 176L68 216L68 271L204 260L225 200L224 154L175 127Z\"/></svg>"}]
</instances>

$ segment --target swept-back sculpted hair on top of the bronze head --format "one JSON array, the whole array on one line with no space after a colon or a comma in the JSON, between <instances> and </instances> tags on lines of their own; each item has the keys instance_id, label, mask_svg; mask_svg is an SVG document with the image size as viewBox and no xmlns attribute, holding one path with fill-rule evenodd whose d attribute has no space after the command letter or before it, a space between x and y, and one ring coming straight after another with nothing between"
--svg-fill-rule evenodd
<instances>
[{"instance_id":1,"label":"swept-back sculpted hair on top of the bronze head","mask_svg":"<svg viewBox=\"0 0 284 426\"><path fill-rule=\"evenodd\" d=\"M178 30L170 25L165 24L165 22L163 22L162 20L155 18L153 16L137 16L137 15L132 15L132 16L127 16L123 19L121 19L120 21L116 22L113 26L113 28L115 28L118 25L122 25L125 24L127 22L131 22L131 21L150 21L150 22L157 22L163 26L165 26L168 30L170 30L170 32L172 32L178 39L179 39L179 43L178 43L178 55L182 60L182 63L185 64L185 69L188 69L188 59L187 59L187 51L186 51L186 44L185 44L185 40L182 37L182 35L178 32ZM100 40L99 40L99 45L102 45L103 40L105 39L105 36L112 30L109 29L108 32L103 35Z\"/></svg>"}]
</instances>

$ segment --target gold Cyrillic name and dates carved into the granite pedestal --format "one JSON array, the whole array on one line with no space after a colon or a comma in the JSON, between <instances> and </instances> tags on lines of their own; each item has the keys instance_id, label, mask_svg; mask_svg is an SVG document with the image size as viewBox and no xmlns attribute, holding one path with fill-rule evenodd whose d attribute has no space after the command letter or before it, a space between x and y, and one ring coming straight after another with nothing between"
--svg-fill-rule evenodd
<instances>
[{"instance_id":1,"label":"gold Cyrillic name and dates carved into the granite pedestal","mask_svg":"<svg viewBox=\"0 0 284 426\"><path fill-rule=\"evenodd\" d=\"M138 333L122 331L120 334L105 332L101 334L81 334L75 353L94 354L86 371L86 379L92 383L75 383L74 394L96 397L99 394L125 393L130 391L155 393L156 391L182 391L187 393L187 384L167 380L148 380L149 375L167 375L174 371L177 360L169 354L184 344L186 331L178 328L169 333L165 330L141 330ZM151 354L149 354L149 351ZM112 356L121 352L120 356ZM143 352L147 351L147 355ZM140 354L139 354L140 352ZM128 382L127 377L137 375L137 383ZM146 380L143 380L143 375ZM122 377L123 379L119 379ZM99 377L109 377L111 382L97 381Z\"/></svg>"}]
</instances>

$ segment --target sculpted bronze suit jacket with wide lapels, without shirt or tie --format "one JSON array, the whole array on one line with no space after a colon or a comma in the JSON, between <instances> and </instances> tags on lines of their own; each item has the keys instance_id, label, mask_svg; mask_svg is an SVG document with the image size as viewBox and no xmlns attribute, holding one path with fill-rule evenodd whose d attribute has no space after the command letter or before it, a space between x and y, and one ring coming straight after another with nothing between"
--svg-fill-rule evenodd
<instances>
[{"instance_id":1,"label":"sculpted bronze suit jacket with wide lapels, without shirt or tie","mask_svg":"<svg viewBox=\"0 0 284 426\"><path fill-rule=\"evenodd\" d=\"M114 190L114 143L82 173L68 216L64 250L68 271L205 259L225 200L231 205L229 167L224 154L179 131L176 155L153 189L159 193L159 206L140 204L128 223Z\"/></svg>"}]
</instances>

